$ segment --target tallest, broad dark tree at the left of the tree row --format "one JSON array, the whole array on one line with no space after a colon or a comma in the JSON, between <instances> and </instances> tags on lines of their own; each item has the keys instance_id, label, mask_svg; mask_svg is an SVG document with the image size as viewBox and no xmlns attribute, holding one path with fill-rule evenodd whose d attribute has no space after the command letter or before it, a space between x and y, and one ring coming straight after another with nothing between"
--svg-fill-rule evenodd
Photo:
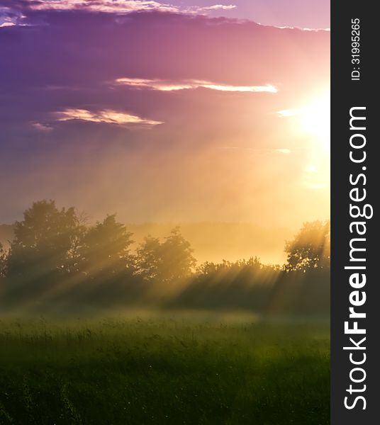
<instances>
[{"instance_id":1,"label":"tallest, broad dark tree at the left of the tree row","mask_svg":"<svg viewBox=\"0 0 380 425\"><path fill-rule=\"evenodd\" d=\"M59 210L54 200L33 203L14 226L9 276L26 282L68 272L81 233L74 208Z\"/></svg>"}]
</instances>

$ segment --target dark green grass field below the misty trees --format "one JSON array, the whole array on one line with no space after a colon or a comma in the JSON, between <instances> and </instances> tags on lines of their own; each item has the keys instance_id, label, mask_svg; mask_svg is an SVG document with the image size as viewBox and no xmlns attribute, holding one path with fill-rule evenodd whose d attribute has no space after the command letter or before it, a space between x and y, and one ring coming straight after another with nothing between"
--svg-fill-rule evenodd
<instances>
[{"instance_id":1,"label":"dark green grass field below the misty trees","mask_svg":"<svg viewBox=\"0 0 380 425\"><path fill-rule=\"evenodd\" d=\"M4 318L0 424L330 423L326 325L172 317Z\"/></svg>"}]
</instances>

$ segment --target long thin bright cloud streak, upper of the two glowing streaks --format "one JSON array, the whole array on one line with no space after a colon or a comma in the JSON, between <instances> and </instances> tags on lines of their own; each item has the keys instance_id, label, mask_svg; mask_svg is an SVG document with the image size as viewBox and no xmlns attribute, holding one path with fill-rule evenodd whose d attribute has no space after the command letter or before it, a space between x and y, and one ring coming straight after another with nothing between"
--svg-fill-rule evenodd
<instances>
[{"instance_id":1,"label":"long thin bright cloud streak, upper of the two glowing streaks","mask_svg":"<svg viewBox=\"0 0 380 425\"><path fill-rule=\"evenodd\" d=\"M136 87L138 89L152 89L158 91L177 91L186 89L211 89L217 91L232 91L242 93L268 92L276 93L278 90L272 84L264 86L234 86L228 84L218 84L211 81L183 80L183 81L164 81L160 79L134 79L119 78L116 83L126 86Z\"/></svg>"}]
</instances>

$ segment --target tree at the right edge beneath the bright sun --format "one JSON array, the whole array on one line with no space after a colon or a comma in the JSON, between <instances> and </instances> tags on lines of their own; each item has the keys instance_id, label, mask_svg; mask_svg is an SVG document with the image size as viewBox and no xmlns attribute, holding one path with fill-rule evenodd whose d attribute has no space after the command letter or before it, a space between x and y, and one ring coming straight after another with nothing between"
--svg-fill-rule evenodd
<instances>
[{"instance_id":1,"label":"tree at the right edge beneath the bright sun","mask_svg":"<svg viewBox=\"0 0 380 425\"><path fill-rule=\"evenodd\" d=\"M306 222L292 241L286 242L286 270L308 271L330 267L330 220Z\"/></svg>"}]
</instances>

